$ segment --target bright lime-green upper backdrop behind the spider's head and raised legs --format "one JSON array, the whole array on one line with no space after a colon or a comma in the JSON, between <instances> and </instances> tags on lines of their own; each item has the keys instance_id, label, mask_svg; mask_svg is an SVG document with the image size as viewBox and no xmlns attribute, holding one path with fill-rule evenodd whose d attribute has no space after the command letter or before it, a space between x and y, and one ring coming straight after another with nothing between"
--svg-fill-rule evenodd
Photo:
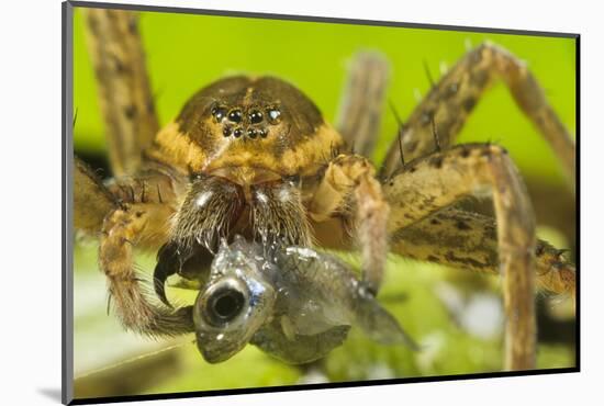
<instances>
[{"instance_id":1,"label":"bright lime-green upper backdrop behind the spider's head and raised legs","mask_svg":"<svg viewBox=\"0 0 604 406\"><path fill-rule=\"evenodd\" d=\"M236 72L276 75L293 82L333 122L347 64L359 49L379 49L390 60L388 99L404 117L417 104L416 94L429 90L424 61L437 79L440 67L455 64L468 45L491 41L528 64L562 122L574 133L575 42L571 38L155 12L143 13L141 31L161 124L176 116L198 89ZM93 71L79 13L75 33L76 150L103 149ZM384 155L395 134L396 123L388 112L376 158ZM553 155L502 83L481 100L460 137L460 142L486 139L503 143L523 171L561 180Z\"/></svg>"}]
</instances>

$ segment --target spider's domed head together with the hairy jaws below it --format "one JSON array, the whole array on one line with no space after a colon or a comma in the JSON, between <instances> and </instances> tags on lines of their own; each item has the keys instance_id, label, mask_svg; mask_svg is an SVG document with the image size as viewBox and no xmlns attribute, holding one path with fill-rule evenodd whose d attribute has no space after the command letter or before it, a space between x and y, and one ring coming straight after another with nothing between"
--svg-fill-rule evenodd
<instances>
[{"instance_id":1,"label":"spider's domed head together with the hairy jaws below it","mask_svg":"<svg viewBox=\"0 0 604 406\"><path fill-rule=\"evenodd\" d=\"M178 264L168 273L195 246L214 251L234 233L309 245L302 179L316 177L342 145L318 109L280 79L232 77L202 89L145 151L188 178L167 250L178 250Z\"/></svg>"}]
</instances>

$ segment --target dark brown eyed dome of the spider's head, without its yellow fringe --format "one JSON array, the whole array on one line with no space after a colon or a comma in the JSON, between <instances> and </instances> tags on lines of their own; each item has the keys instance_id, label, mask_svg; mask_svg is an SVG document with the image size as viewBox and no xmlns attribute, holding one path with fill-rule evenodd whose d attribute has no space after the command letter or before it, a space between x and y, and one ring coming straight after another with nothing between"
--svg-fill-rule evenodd
<instances>
[{"instance_id":1,"label":"dark brown eyed dome of the spider's head, without its yellow fringe","mask_svg":"<svg viewBox=\"0 0 604 406\"><path fill-rule=\"evenodd\" d=\"M177 122L195 143L266 148L283 135L291 145L312 134L323 116L304 93L281 79L236 76L194 94Z\"/></svg>"}]
</instances>

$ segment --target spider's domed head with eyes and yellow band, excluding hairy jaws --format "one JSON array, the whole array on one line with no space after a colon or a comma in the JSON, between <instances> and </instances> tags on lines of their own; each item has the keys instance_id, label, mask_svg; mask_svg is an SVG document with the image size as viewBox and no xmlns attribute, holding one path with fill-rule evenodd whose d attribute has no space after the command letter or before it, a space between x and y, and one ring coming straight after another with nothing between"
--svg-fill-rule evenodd
<instances>
[{"instance_id":1,"label":"spider's domed head with eyes and yellow band, excluding hairy jaws","mask_svg":"<svg viewBox=\"0 0 604 406\"><path fill-rule=\"evenodd\" d=\"M195 93L158 134L152 155L193 173L248 184L314 172L342 144L294 86L273 77L236 76Z\"/></svg>"}]
</instances>

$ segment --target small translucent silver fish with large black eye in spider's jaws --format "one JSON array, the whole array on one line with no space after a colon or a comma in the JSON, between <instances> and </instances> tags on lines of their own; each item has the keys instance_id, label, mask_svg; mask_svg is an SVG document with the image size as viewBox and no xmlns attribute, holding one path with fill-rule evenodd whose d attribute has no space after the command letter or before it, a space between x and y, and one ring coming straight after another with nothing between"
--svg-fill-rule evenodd
<instances>
[{"instance_id":1,"label":"small translucent silver fish with large black eye in spider's jaws","mask_svg":"<svg viewBox=\"0 0 604 406\"><path fill-rule=\"evenodd\" d=\"M248 342L300 364L340 346L351 326L385 345L416 345L338 259L309 248L222 243L193 307L198 348L222 362Z\"/></svg>"}]
</instances>

